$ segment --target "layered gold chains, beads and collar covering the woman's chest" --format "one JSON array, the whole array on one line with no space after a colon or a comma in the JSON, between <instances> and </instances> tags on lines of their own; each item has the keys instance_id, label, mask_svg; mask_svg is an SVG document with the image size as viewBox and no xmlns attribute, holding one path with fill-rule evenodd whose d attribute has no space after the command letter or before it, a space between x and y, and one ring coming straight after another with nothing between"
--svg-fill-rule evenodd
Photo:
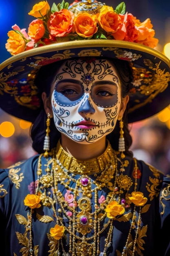
<instances>
[{"instance_id":1,"label":"layered gold chains, beads and collar covering the woman's chest","mask_svg":"<svg viewBox=\"0 0 170 256\"><path fill-rule=\"evenodd\" d=\"M71 157L59 141L51 152L46 175L42 175L41 169L43 154L39 157L36 193L41 191L43 206L52 207L56 224L64 227L69 244L68 252L65 252L64 239L60 239L56 255L106 255L114 226L113 219L107 218L104 210L114 200L123 204L122 191L118 189L117 152L111 148L109 141L107 143L101 156L79 161ZM130 178L128 183L130 187ZM105 245L101 252L102 234L105 234Z\"/></svg>"}]
</instances>

